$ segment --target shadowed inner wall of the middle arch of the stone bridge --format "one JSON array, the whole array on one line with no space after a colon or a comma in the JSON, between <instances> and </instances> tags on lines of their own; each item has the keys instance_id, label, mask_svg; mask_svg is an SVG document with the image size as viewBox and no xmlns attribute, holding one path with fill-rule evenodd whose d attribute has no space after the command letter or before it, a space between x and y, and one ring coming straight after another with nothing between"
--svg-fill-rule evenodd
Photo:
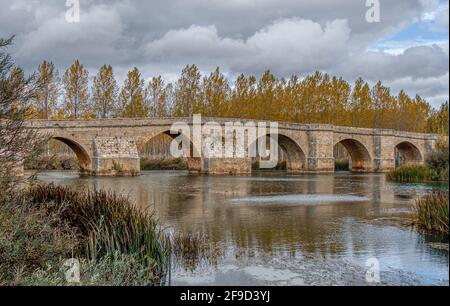
<instances>
[{"instance_id":1,"label":"shadowed inner wall of the middle arch of the stone bridge","mask_svg":"<svg viewBox=\"0 0 450 306\"><path fill-rule=\"evenodd\" d=\"M277 134L280 157L286 162L286 170L291 173L301 173L306 170L306 155L300 145L291 137ZM270 137L270 135L266 135ZM267 141L268 143L269 141Z\"/></svg>"}]
</instances>

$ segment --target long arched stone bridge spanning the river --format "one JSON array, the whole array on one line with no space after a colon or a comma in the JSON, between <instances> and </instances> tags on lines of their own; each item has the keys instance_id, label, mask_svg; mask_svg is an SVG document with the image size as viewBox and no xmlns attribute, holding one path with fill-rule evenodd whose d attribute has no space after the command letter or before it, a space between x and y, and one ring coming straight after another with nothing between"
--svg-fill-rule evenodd
<instances>
[{"instance_id":1,"label":"long arched stone bridge spanning the river","mask_svg":"<svg viewBox=\"0 0 450 306\"><path fill-rule=\"evenodd\" d=\"M245 124L250 120L203 118L202 122L210 121L223 126L226 122ZM141 149L160 134L170 135L175 122L193 126L192 118L161 118L34 120L27 122L27 128L68 145L84 174L137 176ZM405 163L423 163L437 140L437 135L430 134L323 124L279 123L278 128L279 147L287 170L292 173L333 172L334 148L338 143L347 149L352 171L387 172L396 167L398 156ZM248 175L251 164L251 158L188 158L191 172L211 175Z\"/></svg>"}]
</instances>

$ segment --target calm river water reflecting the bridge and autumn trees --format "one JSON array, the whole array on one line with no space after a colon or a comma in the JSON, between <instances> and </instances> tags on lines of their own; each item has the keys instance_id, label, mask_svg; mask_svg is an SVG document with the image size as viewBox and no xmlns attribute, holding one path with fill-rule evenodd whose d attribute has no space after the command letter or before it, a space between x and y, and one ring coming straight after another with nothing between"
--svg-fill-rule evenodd
<instances>
[{"instance_id":1,"label":"calm river water reflecting the bridge and autumn trees","mask_svg":"<svg viewBox=\"0 0 450 306\"><path fill-rule=\"evenodd\" d=\"M393 184L381 174L80 178L44 181L106 188L155 211L168 230L202 232L221 251L216 264L175 265L174 285L366 285L376 258L382 284L448 284L442 237L405 224L414 199L436 186ZM448 240L447 240L448 241Z\"/></svg>"}]
</instances>

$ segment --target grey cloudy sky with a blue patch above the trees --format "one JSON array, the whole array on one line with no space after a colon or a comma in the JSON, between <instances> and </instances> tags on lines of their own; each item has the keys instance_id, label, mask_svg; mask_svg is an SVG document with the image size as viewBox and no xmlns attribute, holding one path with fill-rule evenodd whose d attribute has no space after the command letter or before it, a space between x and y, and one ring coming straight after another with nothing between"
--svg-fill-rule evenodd
<instances>
[{"instance_id":1,"label":"grey cloudy sky with a blue patch above the trees","mask_svg":"<svg viewBox=\"0 0 450 306\"><path fill-rule=\"evenodd\" d=\"M271 70L279 77L315 70L382 80L433 105L448 100L448 1L379 0L0 0L0 37L28 72L45 60L64 71L80 59L91 76L111 64L119 81L138 67L145 78L173 81L187 64L203 73Z\"/></svg>"}]
</instances>

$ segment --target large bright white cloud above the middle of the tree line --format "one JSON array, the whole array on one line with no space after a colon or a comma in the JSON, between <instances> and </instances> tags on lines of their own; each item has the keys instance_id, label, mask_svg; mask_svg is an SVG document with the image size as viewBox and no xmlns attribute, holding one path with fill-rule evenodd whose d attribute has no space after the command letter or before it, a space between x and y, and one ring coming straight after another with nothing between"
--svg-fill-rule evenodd
<instances>
[{"instance_id":1,"label":"large bright white cloud above the middle of the tree line","mask_svg":"<svg viewBox=\"0 0 450 306\"><path fill-rule=\"evenodd\" d=\"M292 18L274 22L246 40L219 37L213 25L172 30L147 44L145 50L150 60L216 63L237 73L271 69L286 75L327 69L345 56L349 39L345 20L322 27L311 20Z\"/></svg>"}]
</instances>

